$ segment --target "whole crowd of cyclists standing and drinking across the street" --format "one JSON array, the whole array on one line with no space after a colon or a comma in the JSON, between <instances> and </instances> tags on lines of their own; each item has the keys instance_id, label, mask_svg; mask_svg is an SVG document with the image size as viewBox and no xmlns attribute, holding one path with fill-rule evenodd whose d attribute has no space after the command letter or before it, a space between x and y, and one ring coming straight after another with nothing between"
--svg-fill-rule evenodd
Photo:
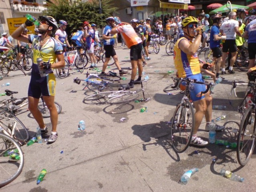
<instances>
[{"instance_id":1,"label":"whole crowd of cyclists standing and drinking across the street","mask_svg":"<svg viewBox=\"0 0 256 192\"><path fill-rule=\"evenodd\" d=\"M146 65L146 60L150 60L148 46L150 44L151 35L153 32L163 35L165 30L167 40L171 40L175 33L178 34L179 39L174 46L174 64L177 70L177 77L192 78L197 81L204 82L201 72L210 74L214 81L221 74L228 73L234 74L234 62L236 58L237 48L242 49L245 42L245 38L248 39L248 51L249 51L249 72L254 67L255 54L256 54L256 10L252 10L251 16L246 16L246 11L238 9L236 12L232 11L228 14L228 17L223 17L221 14L215 14L210 17L209 14L202 13L197 18L193 16L187 16L186 14L179 14L173 16L172 14L166 15L163 20L158 18L153 20L146 18L145 20L132 19L127 22L116 22L119 18L112 16L106 18L106 26L103 29L102 39L105 49L105 62L103 64L101 74L106 73L107 64L112 57L115 61L115 65L119 70L119 75L126 75L128 72L121 69L118 61L117 54L115 52L117 33L121 34L125 45L130 49L131 60L131 79L124 87L131 89L134 84L139 84L142 77L143 66ZM247 18L247 19L246 19ZM57 24L56 20L50 16L41 16L40 25L36 28L35 35L27 34L27 26L32 26L32 22L27 20L12 34L12 37L18 40L18 46L22 52L22 48L30 44L33 48L33 65L31 80L28 89L28 102L29 110L34 116L38 126L42 132L42 135L48 132L48 128L45 126L42 119L42 114L38 110L38 101L42 94L44 101L50 110L50 120L52 123L52 132L48 143L55 142L57 134L57 121L58 114L54 105L55 96L55 76L52 69L57 68L59 74L66 73L63 70L65 65L63 52L65 47L79 46L80 53L83 52L83 44L86 44L86 49L89 54L91 66L89 68L97 67L96 58L94 55L95 44L100 41L99 32L96 29L96 24L88 21L83 23L83 26L79 27L77 32L71 37L71 42L68 41L67 33L65 32L68 22L65 20L59 20ZM204 28L204 26L210 26L210 20L212 23L211 30ZM206 30L202 30L202 29ZM201 47L206 46L208 32L210 32L210 48L213 52L213 66L211 64L200 64L196 52ZM6 33L2 34L0 39L0 46L6 46L12 48L14 45L8 40ZM142 56L142 48L145 50L145 58ZM2 58L8 54L6 49ZM230 53L230 64L228 68L225 68L226 57ZM16 61L19 59L18 54ZM38 59L42 58L42 62L38 63ZM39 65L39 68L38 68ZM138 77L136 79L136 72L138 68ZM251 68L251 69L250 69ZM210 71L211 69L211 71ZM40 76L39 70L45 71L45 76ZM200 94L206 90L205 86L201 84L195 84L194 90L191 90L191 99L193 100L196 108L195 118L196 124L193 132L191 144L196 146L204 146L208 144L207 141L202 140L197 136L198 128L202 122L203 117L206 117L206 130L215 129L221 131L223 126L219 126L212 122L212 97L210 91L206 94Z\"/></svg>"}]
</instances>

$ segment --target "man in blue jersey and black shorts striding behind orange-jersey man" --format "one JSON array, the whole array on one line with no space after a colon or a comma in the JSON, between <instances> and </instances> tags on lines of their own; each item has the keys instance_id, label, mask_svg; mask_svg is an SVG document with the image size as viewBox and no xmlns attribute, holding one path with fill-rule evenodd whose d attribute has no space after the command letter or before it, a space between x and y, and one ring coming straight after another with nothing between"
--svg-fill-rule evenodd
<instances>
[{"instance_id":1,"label":"man in blue jersey and black shorts striding behind orange-jersey man","mask_svg":"<svg viewBox=\"0 0 256 192\"><path fill-rule=\"evenodd\" d=\"M110 57L112 57L113 60L115 61L115 66L119 70L119 75L124 76L128 72L123 70L120 67L120 64L119 64L119 61L117 58L117 54L114 49L114 44L115 44L114 38L117 35L110 34L112 28L115 27L115 19L113 17L108 17L108 18L106 18L106 22L107 22L107 25L104 27L103 33L102 33L103 45L104 45L104 50L105 50L105 61L102 66L101 74L103 74L103 75L106 74L105 70L107 68L107 64L109 63Z\"/></svg>"}]
</instances>

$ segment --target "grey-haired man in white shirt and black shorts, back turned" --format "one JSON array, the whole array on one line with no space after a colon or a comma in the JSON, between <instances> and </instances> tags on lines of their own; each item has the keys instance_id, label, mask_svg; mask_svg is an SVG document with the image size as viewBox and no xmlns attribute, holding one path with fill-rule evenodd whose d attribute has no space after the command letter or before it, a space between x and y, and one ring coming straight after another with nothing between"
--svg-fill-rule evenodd
<instances>
[{"instance_id":1,"label":"grey-haired man in white shirt and black shorts, back turned","mask_svg":"<svg viewBox=\"0 0 256 192\"><path fill-rule=\"evenodd\" d=\"M234 74L235 71L233 70L233 65L236 60L236 34L238 36L242 36L240 31L238 30L239 23L236 20L236 12L232 11L228 14L229 20L226 20L220 26L220 33L222 35L226 35L225 42L222 42L222 74L226 74L225 72L225 62L228 52L231 52L231 59L230 59L230 67L228 73Z\"/></svg>"}]
</instances>

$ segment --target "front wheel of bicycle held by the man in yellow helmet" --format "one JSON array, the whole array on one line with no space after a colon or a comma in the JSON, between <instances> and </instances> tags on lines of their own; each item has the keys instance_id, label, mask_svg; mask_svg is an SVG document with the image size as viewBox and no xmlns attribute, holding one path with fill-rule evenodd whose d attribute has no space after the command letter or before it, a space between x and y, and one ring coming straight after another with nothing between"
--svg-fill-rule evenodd
<instances>
[{"instance_id":1,"label":"front wheel of bicycle held by the man in yellow helmet","mask_svg":"<svg viewBox=\"0 0 256 192\"><path fill-rule=\"evenodd\" d=\"M175 152L182 153L187 149L194 124L193 106L185 100L177 106L171 119L171 142Z\"/></svg>"}]
</instances>

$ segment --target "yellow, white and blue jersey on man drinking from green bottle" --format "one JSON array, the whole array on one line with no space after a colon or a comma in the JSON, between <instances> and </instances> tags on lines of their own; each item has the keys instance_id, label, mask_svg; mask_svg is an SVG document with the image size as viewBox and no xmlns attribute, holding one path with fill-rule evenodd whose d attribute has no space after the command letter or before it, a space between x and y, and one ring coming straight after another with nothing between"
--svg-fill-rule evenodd
<instances>
[{"instance_id":1,"label":"yellow, white and blue jersey on man drinking from green bottle","mask_svg":"<svg viewBox=\"0 0 256 192\"><path fill-rule=\"evenodd\" d=\"M29 35L28 40L30 43L32 43L33 48L33 65L31 72L32 74L39 74L39 69L36 62L37 58L42 58L44 62L49 61L50 63L54 63L56 62L56 54L63 53L62 45L60 44L60 42L52 37L46 40L45 44L42 47L39 46L41 36ZM49 69L45 73L49 74L52 72L52 69Z\"/></svg>"}]
</instances>

